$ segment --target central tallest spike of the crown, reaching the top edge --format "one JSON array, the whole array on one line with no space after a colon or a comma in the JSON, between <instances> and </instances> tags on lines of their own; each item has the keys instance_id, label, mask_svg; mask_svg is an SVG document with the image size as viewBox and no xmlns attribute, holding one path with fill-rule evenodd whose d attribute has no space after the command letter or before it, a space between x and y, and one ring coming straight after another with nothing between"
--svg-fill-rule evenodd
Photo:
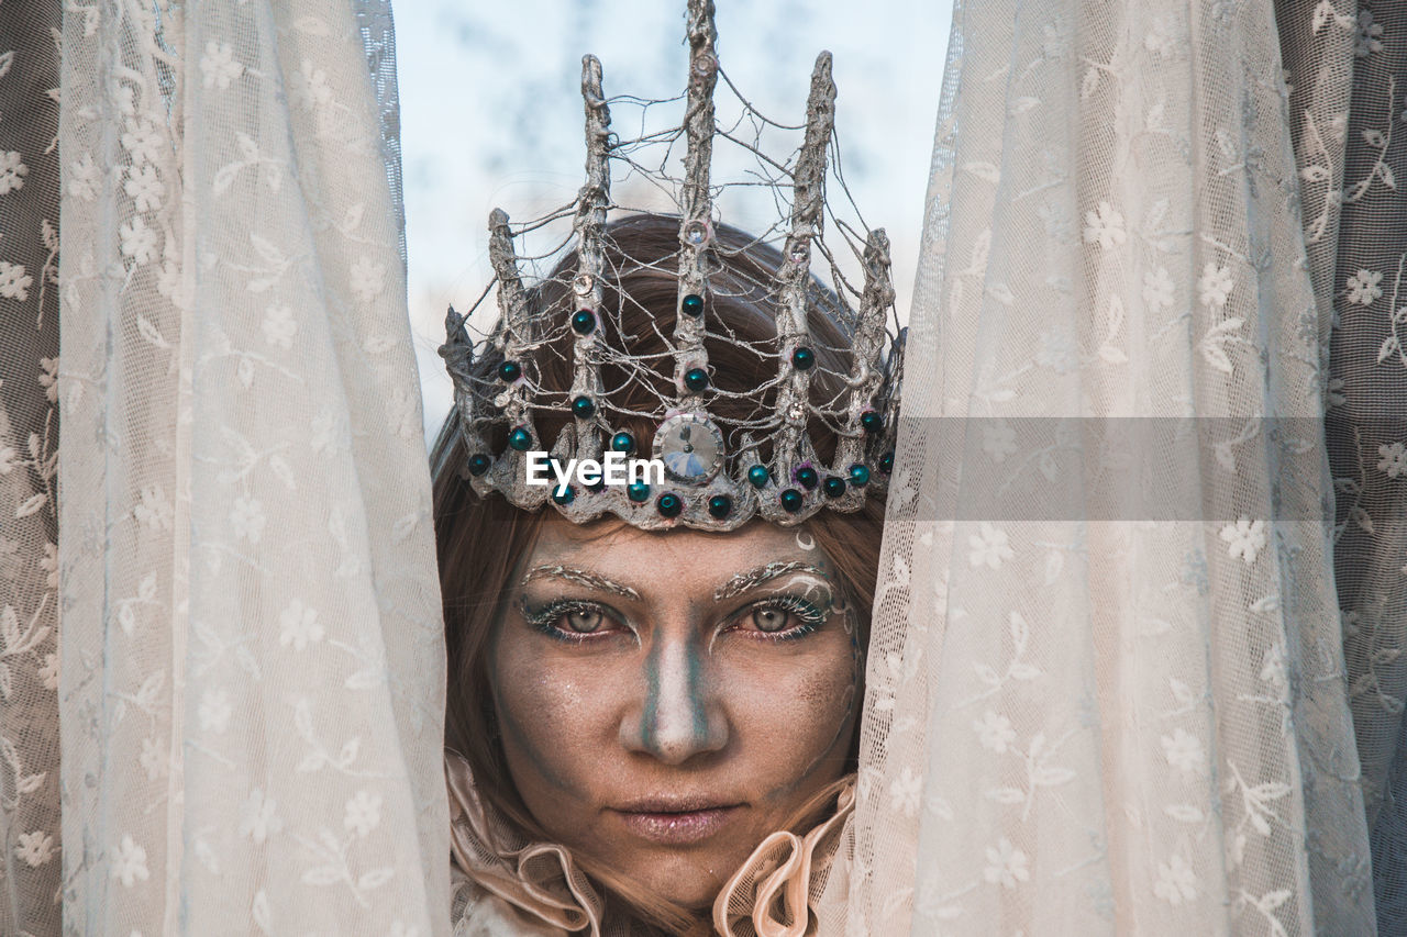
<instances>
[{"instance_id":1,"label":"central tallest spike of the crown, reaching the top edge","mask_svg":"<svg viewBox=\"0 0 1407 937\"><path fill-rule=\"evenodd\" d=\"M718 55L713 49L713 0L689 0L689 90L684 114L684 190L680 201L680 288L674 315L674 385L680 408L702 407L708 385L708 352L704 350L704 255L713 239L713 201L709 165L713 159L713 86Z\"/></svg>"}]
</instances>

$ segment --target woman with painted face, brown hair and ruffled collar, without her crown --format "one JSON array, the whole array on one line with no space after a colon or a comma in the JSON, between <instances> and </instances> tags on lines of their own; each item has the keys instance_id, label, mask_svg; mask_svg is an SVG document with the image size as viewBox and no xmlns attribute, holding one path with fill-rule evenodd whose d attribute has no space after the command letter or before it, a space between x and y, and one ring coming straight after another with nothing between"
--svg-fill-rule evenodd
<instances>
[{"instance_id":1,"label":"woman with painted face, brown hair and ruffled collar, without her crown","mask_svg":"<svg viewBox=\"0 0 1407 937\"><path fill-rule=\"evenodd\" d=\"M670 381L680 221L637 215L605 235L616 274L602 340L653 362L656 378L604 369L605 397L613 428L649 440L639 414L658 407ZM733 442L775 407L778 311L765 284L784 260L726 227L713 255L709 415ZM578 260L568 255L530 305L570 310ZM834 298L815 283L809 294L810 401L825 414L844 397L850 339ZM546 340L519 362L539 393L568 393L571 340ZM502 363L490 355L476 369L491 383ZM552 439L567 422L537 429ZM837 432L822 418L808 431L830 464ZM760 454L770 459L765 443ZM456 412L433 466L460 926L688 933L712 920L751 933L756 909L805 929L808 892L815 900L853 801L882 499L792 528L577 525L476 495L470 457Z\"/></svg>"}]
</instances>

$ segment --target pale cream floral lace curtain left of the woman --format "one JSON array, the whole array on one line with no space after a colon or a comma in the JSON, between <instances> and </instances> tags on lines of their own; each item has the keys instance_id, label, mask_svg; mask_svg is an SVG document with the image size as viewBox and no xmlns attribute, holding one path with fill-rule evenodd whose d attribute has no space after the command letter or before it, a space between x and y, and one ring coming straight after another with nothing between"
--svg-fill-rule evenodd
<instances>
[{"instance_id":1,"label":"pale cream floral lace curtain left of the woman","mask_svg":"<svg viewBox=\"0 0 1407 937\"><path fill-rule=\"evenodd\" d=\"M65 4L68 933L449 933L388 15Z\"/></svg>"}]
</instances>

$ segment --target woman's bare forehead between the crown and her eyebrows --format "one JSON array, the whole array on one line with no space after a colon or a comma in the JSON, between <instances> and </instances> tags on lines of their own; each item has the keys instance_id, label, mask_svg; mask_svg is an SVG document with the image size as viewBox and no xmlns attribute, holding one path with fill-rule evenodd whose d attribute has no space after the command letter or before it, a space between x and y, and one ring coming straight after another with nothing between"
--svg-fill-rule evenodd
<instances>
[{"instance_id":1,"label":"woman's bare forehead between the crown and her eyebrows","mask_svg":"<svg viewBox=\"0 0 1407 937\"><path fill-rule=\"evenodd\" d=\"M713 587L740 570L774 561L826 566L820 547L805 546L812 546L812 539L802 529L761 522L727 533L649 532L615 521L578 526L552 514L519 568L570 561L637 588Z\"/></svg>"}]
</instances>

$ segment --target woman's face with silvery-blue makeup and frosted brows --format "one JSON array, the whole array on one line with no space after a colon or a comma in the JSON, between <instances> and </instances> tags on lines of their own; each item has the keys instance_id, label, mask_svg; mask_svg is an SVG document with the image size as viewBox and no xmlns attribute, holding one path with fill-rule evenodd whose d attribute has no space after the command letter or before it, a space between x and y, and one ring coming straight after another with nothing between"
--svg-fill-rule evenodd
<instances>
[{"instance_id":1,"label":"woman's face with silvery-blue makeup and frosted brows","mask_svg":"<svg viewBox=\"0 0 1407 937\"><path fill-rule=\"evenodd\" d=\"M855 609L805 533L550 516L490 668L508 770L547 833L702 907L844 772L860 657Z\"/></svg>"}]
</instances>

